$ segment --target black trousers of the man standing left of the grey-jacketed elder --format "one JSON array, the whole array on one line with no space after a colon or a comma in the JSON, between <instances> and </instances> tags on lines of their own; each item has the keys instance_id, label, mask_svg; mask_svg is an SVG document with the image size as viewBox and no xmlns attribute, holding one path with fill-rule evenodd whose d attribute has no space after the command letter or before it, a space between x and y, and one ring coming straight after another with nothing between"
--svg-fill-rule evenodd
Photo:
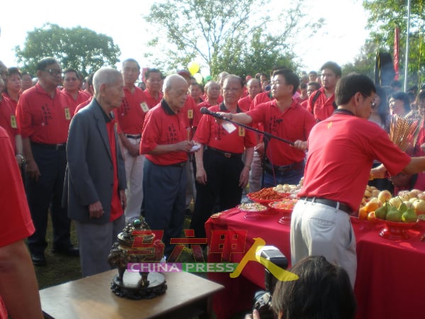
<instances>
[{"instance_id":1,"label":"black trousers of the man standing left of the grey-jacketed elder","mask_svg":"<svg viewBox=\"0 0 425 319\"><path fill-rule=\"evenodd\" d=\"M69 228L71 220L67 208L62 208L64 174L67 167L67 153L63 147L55 148L31 145L33 157L40 170L38 181L26 179L28 206L35 227L35 233L28 237L31 254L40 254L47 247L47 215L50 214L53 225L53 248L67 249L71 246Z\"/></svg>"}]
</instances>

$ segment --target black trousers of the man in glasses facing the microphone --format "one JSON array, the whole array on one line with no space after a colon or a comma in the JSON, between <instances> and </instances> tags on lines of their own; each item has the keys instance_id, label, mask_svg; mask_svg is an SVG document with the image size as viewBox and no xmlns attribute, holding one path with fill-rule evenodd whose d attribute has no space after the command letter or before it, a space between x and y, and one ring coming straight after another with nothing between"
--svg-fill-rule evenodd
<instances>
[{"instance_id":1,"label":"black trousers of the man in glasses facing the microphone","mask_svg":"<svg viewBox=\"0 0 425 319\"><path fill-rule=\"evenodd\" d=\"M203 154L203 165L207 174L205 185L196 182L196 202L191 228L198 238L205 238L205 222L214 213L218 198L220 211L237 206L242 199L239 177L244 168L242 157L225 157L207 149Z\"/></svg>"}]
</instances>

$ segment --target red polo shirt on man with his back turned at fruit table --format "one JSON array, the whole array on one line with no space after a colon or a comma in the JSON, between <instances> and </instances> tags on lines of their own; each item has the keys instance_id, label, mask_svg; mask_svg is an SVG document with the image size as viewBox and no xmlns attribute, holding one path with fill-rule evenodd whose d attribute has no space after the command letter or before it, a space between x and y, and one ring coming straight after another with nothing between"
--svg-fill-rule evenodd
<instances>
[{"instance_id":1,"label":"red polo shirt on man with his back turned at fruit table","mask_svg":"<svg viewBox=\"0 0 425 319\"><path fill-rule=\"evenodd\" d=\"M304 183L298 196L341 201L357 211L374 159L391 175L397 175L411 160L376 123L334 114L314 125L310 133Z\"/></svg>"}]
</instances>

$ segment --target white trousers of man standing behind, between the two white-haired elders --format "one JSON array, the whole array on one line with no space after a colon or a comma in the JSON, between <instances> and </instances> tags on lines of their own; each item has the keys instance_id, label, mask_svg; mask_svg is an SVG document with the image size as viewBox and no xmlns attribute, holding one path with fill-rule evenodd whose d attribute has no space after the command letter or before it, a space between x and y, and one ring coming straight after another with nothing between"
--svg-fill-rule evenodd
<instances>
[{"instance_id":1,"label":"white trousers of man standing behind, between the two white-haired elders","mask_svg":"<svg viewBox=\"0 0 425 319\"><path fill-rule=\"evenodd\" d=\"M140 145L140 138L128 139L133 145ZM143 161L145 156L131 156L124 148L125 176L127 177L127 207L125 208L125 223L130 223L140 217L143 201Z\"/></svg>"}]
</instances>

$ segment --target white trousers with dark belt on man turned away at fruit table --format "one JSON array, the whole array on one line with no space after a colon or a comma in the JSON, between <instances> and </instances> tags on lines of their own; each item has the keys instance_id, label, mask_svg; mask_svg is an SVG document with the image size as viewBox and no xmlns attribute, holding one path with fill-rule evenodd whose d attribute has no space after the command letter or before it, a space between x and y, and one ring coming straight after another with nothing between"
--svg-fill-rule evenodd
<instances>
[{"instance_id":1,"label":"white trousers with dark belt on man turned away at fruit table","mask_svg":"<svg viewBox=\"0 0 425 319\"><path fill-rule=\"evenodd\" d=\"M331 206L300 199L290 223L292 265L307 256L324 256L328 262L343 267L356 281L356 237L350 216Z\"/></svg>"}]
</instances>

